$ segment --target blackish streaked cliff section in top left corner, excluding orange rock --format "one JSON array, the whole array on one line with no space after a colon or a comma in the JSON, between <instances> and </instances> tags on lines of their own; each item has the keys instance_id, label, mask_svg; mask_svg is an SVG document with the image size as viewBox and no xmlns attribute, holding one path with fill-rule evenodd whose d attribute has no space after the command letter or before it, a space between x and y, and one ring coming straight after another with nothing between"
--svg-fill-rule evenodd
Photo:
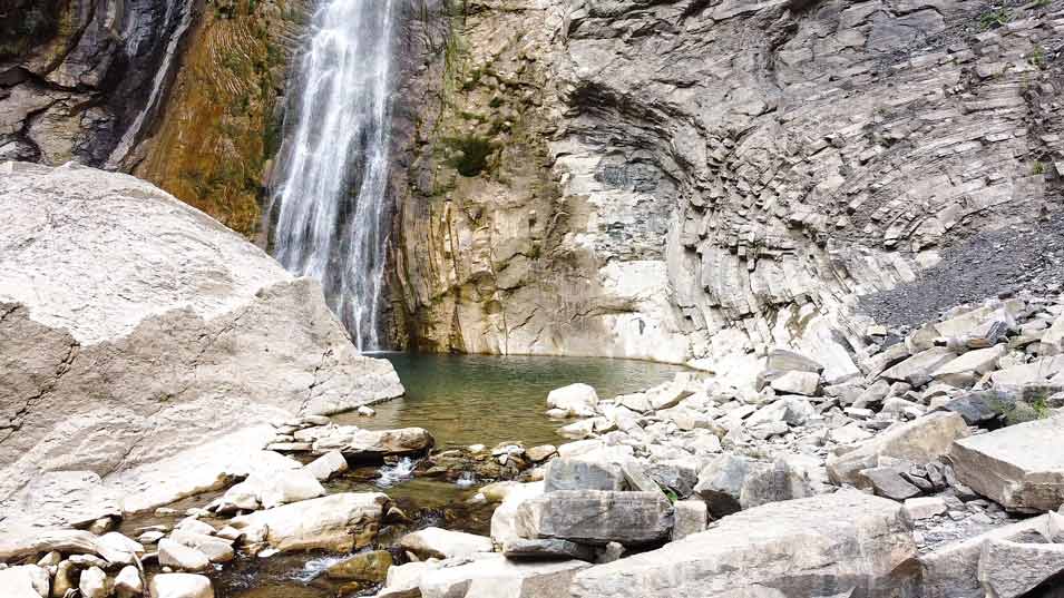
<instances>
[{"instance_id":1,"label":"blackish streaked cliff section in top left corner, excluding orange rock","mask_svg":"<svg viewBox=\"0 0 1064 598\"><path fill-rule=\"evenodd\" d=\"M120 160L158 111L195 4L9 2L0 14L0 159Z\"/></svg>"}]
</instances>

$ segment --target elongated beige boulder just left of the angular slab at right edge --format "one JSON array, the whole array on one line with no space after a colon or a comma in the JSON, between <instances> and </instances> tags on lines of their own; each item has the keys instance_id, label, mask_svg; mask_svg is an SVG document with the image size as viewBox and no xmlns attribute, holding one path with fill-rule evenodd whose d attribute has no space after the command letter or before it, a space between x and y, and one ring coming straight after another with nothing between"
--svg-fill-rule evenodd
<instances>
[{"instance_id":1,"label":"elongated beige boulder just left of the angular slab at right edge","mask_svg":"<svg viewBox=\"0 0 1064 598\"><path fill-rule=\"evenodd\" d=\"M863 469L879 467L881 459L901 459L917 464L947 454L954 439L968 435L968 427L956 413L929 413L910 422L895 424L842 454L828 457L828 476L834 483L862 483Z\"/></svg>"}]
</instances>

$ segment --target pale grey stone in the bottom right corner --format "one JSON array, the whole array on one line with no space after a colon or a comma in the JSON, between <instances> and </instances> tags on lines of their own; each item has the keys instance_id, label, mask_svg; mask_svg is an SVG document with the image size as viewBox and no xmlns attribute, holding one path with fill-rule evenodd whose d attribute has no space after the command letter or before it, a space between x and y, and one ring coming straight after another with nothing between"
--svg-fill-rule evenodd
<instances>
[{"instance_id":1,"label":"pale grey stone in the bottom right corner","mask_svg":"<svg viewBox=\"0 0 1064 598\"><path fill-rule=\"evenodd\" d=\"M987 596L1019 598L1064 571L1064 545L992 539L979 556L979 581Z\"/></svg>"}]
</instances>

